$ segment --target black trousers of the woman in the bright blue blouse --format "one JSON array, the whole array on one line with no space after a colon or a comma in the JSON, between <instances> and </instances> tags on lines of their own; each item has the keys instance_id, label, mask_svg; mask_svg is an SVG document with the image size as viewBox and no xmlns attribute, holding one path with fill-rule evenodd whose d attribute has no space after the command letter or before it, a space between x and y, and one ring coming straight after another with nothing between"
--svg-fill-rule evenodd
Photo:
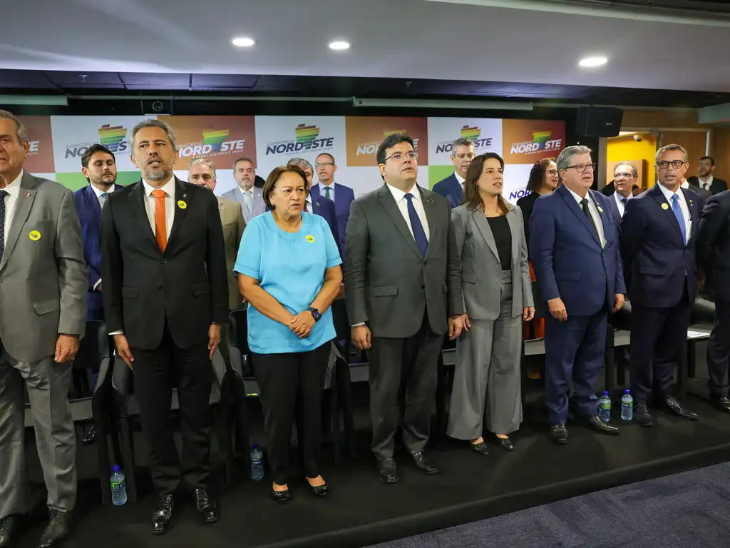
<instances>
[{"instance_id":1,"label":"black trousers of the woman in the bright blue blouse","mask_svg":"<svg viewBox=\"0 0 730 548\"><path fill-rule=\"evenodd\" d=\"M269 468L277 485L286 484L290 478L289 448L295 416L303 438L299 440L299 454L304 476L320 475L322 393L330 351L328 341L308 352L253 354L253 373L264 408Z\"/></svg>"}]
</instances>

